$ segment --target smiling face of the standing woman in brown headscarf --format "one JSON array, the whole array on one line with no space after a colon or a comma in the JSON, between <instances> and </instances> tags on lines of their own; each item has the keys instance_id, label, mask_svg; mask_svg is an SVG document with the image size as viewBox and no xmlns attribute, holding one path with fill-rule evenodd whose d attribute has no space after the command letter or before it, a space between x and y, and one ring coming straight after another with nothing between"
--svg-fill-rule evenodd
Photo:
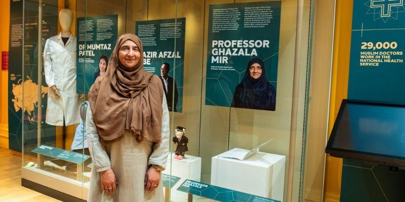
<instances>
[{"instance_id":1,"label":"smiling face of the standing woman in brown headscarf","mask_svg":"<svg viewBox=\"0 0 405 202\"><path fill-rule=\"evenodd\" d=\"M118 59L127 68L133 68L139 62L141 53L134 41L127 40L118 51Z\"/></svg>"}]
</instances>

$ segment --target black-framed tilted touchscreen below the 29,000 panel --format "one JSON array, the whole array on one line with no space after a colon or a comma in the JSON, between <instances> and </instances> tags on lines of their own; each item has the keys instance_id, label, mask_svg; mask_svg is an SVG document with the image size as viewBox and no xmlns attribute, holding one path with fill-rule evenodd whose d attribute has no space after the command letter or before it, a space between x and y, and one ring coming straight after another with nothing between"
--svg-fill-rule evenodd
<instances>
[{"instance_id":1,"label":"black-framed tilted touchscreen below the 29,000 panel","mask_svg":"<svg viewBox=\"0 0 405 202\"><path fill-rule=\"evenodd\" d=\"M326 153L405 168L405 105L342 101Z\"/></svg>"}]
</instances>

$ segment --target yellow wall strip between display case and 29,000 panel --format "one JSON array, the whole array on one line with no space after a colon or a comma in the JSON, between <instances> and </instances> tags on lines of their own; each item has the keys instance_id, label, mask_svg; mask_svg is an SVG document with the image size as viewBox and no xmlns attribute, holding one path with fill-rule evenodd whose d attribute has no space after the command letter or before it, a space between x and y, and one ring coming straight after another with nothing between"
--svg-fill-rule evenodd
<instances>
[{"instance_id":1,"label":"yellow wall strip between display case and 29,000 panel","mask_svg":"<svg viewBox=\"0 0 405 202\"><path fill-rule=\"evenodd\" d=\"M352 11L353 0L337 0L328 134L332 131L342 99L347 98ZM325 201L340 199L342 164L342 159L327 156Z\"/></svg>"}]
</instances>

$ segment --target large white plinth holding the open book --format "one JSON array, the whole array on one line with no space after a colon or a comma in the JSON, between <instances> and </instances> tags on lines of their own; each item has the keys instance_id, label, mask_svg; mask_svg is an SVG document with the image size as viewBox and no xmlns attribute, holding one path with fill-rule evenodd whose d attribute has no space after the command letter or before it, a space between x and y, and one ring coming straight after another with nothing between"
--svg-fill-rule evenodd
<instances>
[{"instance_id":1,"label":"large white plinth holding the open book","mask_svg":"<svg viewBox=\"0 0 405 202\"><path fill-rule=\"evenodd\" d=\"M259 152L245 161L220 156L212 158L212 185L282 201L286 156Z\"/></svg>"}]
</instances>

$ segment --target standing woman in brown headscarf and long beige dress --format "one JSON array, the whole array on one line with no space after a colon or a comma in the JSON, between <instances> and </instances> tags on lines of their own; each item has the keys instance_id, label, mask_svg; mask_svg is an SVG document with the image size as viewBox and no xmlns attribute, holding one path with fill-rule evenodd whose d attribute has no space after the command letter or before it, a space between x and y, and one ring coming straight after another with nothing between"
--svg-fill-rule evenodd
<instances>
[{"instance_id":1,"label":"standing woman in brown headscarf and long beige dress","mask_svg":"<svg viewBox=\"0 0 405 202\"><path fill-rule=\"evenodd\" d=\"M89 91L89 201L163 201L169 111L160 79L143 67L142 43L121 35L107 72Z\"/></svg>"}]
</instances>

